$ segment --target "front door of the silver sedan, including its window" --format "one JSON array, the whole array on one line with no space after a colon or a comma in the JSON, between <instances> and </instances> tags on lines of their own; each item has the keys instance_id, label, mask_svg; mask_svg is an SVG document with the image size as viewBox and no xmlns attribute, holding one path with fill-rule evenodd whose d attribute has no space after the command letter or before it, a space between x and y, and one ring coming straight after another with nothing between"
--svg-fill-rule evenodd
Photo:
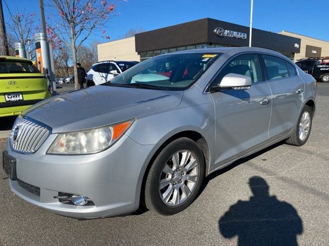
<instances>
[{"instance_id":1,"label":"front door of the silver sedan, including its window","mask_svg":"<svg viewBox=\"0 0 329 246\"><path fill-rule=\"evenodd\" d=\"M267 81L262 79L257 54L233 58L222 69L215 83L228 73L250 76L252 85L248 90L229 89L211 93L216 122L217 164L214 169L269 138L271 91Z\"/></svg>"}]
</instances>

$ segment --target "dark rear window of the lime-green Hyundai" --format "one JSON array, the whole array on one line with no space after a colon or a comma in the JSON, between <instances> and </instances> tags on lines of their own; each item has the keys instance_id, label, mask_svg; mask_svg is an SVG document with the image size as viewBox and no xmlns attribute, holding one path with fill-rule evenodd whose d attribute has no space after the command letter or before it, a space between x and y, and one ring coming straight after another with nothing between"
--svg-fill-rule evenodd
<instances>
[{"instance_id":1,"label":"dark rear window of the lime-green Hyundai","mask_svg":"<svg viewBox=\"0 0 329 246\"><path fill-rule=\"evenodd\" d=\"M40 71L28 61L6 60L0 62L0 73L40 73Z\"/></svg>"}]
</instances>

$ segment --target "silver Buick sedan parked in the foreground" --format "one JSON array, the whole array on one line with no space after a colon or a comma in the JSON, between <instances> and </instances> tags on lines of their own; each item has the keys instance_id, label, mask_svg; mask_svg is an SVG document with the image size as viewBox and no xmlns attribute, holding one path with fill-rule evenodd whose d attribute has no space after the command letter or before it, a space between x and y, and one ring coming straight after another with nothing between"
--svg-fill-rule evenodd
<instances>
[{"instance_id":1,"label":"silver Buick sedan parked in the foreground","mask_svg":"<svg viewBox=\"0 0 329 246\"><path fill-rule=\"evenodd\" d=\"M166 66L170 77L144 82ZM315 79L271 50L159 55L26 110L4 170L15 194L57 214L114 216L141 202L172 215L210 173L278 141L304 145L316 96Z\"/></svg>"}]
</instances>

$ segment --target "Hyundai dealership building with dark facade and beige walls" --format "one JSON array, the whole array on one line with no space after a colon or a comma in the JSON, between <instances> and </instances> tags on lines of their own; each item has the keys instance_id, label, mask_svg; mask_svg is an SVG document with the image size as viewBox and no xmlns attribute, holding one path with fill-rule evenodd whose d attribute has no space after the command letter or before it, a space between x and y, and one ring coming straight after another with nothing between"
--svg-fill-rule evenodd
<instances>
[{"instance_id":1,"label":"Hyundai dealership building with dark facade and beige walls","mask_svg":"<svg viewBox=\"0 0 329 246\"><path fill-rule=\"evenodd\" d=\"M99 44L98 60L137 60L181 50L249 46L249 27L204 18ZM282 31L252 29L252 46L278 51L291 60L329 56L329 42Z\"/></svg>"}]
</instances>

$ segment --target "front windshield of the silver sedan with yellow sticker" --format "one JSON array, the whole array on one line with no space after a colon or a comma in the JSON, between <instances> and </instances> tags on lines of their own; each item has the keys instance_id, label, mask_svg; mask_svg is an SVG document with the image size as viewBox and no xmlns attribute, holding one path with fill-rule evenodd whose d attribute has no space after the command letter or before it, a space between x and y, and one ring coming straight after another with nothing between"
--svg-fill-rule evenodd
<instances>
[{"instance_id":1,"label":"front windshield of the silver sedan with yellow sticker","mask_svg":"<svg viewBox=\"0 0 329 246\"><path fill-rule=\"evenodd\" d=\"M103 85L158 90L185 90L221 54L205 52L156 56L135 65Z\"/></svg>"}]
</instances>

